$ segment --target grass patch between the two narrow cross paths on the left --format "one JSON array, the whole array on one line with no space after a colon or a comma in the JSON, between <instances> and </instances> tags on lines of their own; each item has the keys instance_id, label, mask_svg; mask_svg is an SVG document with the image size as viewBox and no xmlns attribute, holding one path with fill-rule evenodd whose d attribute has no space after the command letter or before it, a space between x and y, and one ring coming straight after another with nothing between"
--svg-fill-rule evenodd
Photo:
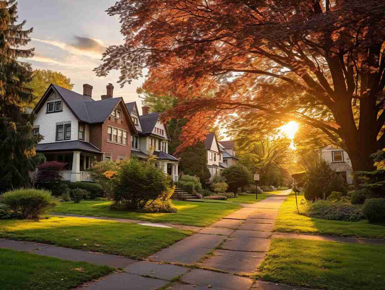
<instances>
[{"instance_id":1,"label":"grass patch between the two narrow cross paths on the left","mask_svg":"<svg viewBox=\"0 0 385 290\"><path fill-rule=\"evenodd\" d=\"M145 258L189 235L191 231L90 218L0 221L2 238L38 241L135 259Z\"/></svg>"}]
</instances>

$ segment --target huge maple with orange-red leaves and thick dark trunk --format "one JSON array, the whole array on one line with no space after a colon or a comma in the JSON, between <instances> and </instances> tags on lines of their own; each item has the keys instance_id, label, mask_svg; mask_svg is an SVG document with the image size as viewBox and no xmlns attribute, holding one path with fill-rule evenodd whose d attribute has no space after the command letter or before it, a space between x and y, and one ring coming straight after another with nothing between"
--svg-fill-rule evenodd
<instances>
[{"instance_id":1,"label":"huge maple with orange-red leaves and thick dark trunk","mask_svg":"<svg viewBox=\"0 0 385 290\"><path fill-rule=\"evenodd\" d=\"M256 130L314 127L354 170L385 147L383 0L120 0L107 12L125 42L95 72L118 69L124 86L148 68L144 88L180 100L164 116L189 119L182 147L232 113Z\"/></svg>"}]
</instances>

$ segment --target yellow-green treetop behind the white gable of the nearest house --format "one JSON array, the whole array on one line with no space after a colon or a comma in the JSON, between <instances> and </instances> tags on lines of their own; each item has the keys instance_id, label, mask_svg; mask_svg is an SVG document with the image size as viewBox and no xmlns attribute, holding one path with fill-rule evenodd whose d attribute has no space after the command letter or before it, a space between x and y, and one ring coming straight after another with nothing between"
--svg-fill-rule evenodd
<instances>
[{"instance_id":1,"label":"yellow-green treetop behind the white gable of the nearest house","mask_svg":"<svg viewBox=\"0 0 385 290\"><path fill-rule=\"evenodd\" d=\"M33 90L33 100L25 104L25 106L33 109L50 84L60 85L60 87L69 90L72 90L74 87L71 79L61 72L49 69L35 69L33 70L32 80L25 84L26 87Z\"/></svg>"}]
</instances>

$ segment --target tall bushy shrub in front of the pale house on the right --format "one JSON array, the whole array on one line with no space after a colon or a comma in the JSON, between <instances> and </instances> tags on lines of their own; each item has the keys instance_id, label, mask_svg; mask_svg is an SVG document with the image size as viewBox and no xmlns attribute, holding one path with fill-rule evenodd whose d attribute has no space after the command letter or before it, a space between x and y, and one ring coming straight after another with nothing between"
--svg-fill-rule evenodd
<instances>
[{"instance_id":1,"label":"tall bushy shrub in front of the pale house on the right","mask_svg":"<svg viewBox=\"0 0 385 290\"><path fill-rule=\"evenodd\" d=\"M347 192L346 181L330 169L329 164L325 160L312 168L309 168L306 176L305 198L315 200L319 198L327 198L332 191L339 191L343 194Z\"/></svg>"}]
</instances>

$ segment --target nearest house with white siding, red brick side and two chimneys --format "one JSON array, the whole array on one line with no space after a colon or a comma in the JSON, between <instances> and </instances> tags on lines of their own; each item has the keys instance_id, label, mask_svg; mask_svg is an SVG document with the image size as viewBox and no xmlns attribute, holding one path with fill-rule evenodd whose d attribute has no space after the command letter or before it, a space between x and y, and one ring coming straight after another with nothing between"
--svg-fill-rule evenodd
<instances>
[{"instance_id":1,"label":"nearest house with white siding, red brick side and two chimneys","mask_svg":"<svg viewBox=\"0 0 385 290\"><path fill-rule=\"evenodd\" d=\"M114 86L100 101L92 99L92 86L83 85L83 94L51 84L33 112L33 134L44 139L35 146L47 161L68 163L63 180L90 181L89 169L95 161L131 156L131 136L136 126L122 97L113 97Z\"/></svg>"}]
</instances>

